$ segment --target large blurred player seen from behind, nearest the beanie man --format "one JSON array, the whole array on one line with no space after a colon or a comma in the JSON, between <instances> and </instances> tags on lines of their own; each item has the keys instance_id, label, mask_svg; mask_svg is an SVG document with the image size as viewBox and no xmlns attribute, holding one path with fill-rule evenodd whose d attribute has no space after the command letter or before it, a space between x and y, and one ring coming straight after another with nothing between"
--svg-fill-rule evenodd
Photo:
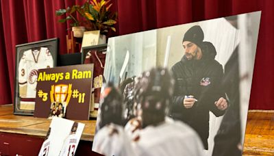
<instances>
[{"instance_id":1,"label":"large blurred player seen from behind, nearest the beanie man","mask_svg":"<svg viewBox=\"0 0 274 156\"><path fill-rule=\"evenodd\" d=\"M173 86L174 80L164 68L143 73L136 83L134 95L142 127L133 139L138 155L203 155L197 133L181 121L166 118Z\"/></svg>"}]
</instances>

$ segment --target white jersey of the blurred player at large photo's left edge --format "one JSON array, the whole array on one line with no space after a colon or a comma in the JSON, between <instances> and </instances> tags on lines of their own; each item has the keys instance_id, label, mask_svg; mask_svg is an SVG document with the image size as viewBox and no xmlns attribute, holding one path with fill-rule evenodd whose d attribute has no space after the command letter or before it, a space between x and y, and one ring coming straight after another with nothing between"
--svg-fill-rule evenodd
<instances>
[{"instance_id":1,"label":"white jersey of the blurred player at large photo's left edge","mask_svg":"<svg viewBox=\"0 0 274 156\"><path fill-rule=\"evenodd\" d=\"M129 138L119 125L106 125L95 135L92 151L105 156L136 156Z\"/></svg>"}]
</instances>

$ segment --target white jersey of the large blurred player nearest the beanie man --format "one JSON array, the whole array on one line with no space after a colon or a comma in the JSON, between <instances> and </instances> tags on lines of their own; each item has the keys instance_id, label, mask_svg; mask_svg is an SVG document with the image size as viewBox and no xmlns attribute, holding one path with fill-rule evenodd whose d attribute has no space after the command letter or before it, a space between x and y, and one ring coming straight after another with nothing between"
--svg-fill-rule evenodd
<instances>
[{"instance_id":1,"label":"white jersey of the large blurred player nearest the beanie man","mask_svg":"<svg viewBox=\"0 0 274 156\"><path fill-rule=\"evenodd\" d=\"M133 146L137 155L203 155L203 144L197 133L180 121L166 121L140 130Z\"/></svg>"}]
</instances>

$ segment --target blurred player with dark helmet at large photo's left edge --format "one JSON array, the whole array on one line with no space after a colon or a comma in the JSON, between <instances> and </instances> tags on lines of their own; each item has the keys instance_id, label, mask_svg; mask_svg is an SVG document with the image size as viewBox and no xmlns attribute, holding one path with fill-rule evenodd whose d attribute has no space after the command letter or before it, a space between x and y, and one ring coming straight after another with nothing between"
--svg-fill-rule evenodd
<instances>
[{"instance_id":1,"label":"blurred player with dark helmet at large photo's left edge","mask_svg":"<svg viewBox=\"0 0 274 156\"><path fill-rule=\"evenodd\" d=\"M92 151L106 156L135 155L129 138L123 131L123 98L119 90L110 84L101 94L99 131L96 133Z\"/></svg>"}]
</instances>

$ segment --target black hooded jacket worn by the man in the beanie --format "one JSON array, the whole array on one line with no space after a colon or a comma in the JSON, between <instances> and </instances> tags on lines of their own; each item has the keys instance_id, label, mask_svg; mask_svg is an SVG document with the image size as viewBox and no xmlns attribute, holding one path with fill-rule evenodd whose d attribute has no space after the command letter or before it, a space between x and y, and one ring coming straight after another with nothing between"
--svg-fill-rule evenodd
<instances>
[{"instance_id":1,"label":"black hooded jacket worn by the man in the beanie","mask_svg":"<svg viewBox=\"0 0 274 156\"><path fill-rule=\"evenodd\" d=\"M225 98L221 88L223 67L214 60L216 51L203 51L201 60L187 60L182 57L172 68L175 77L175 92L171 117L186 122L199 134L203 145L208 149L209 112L222 116L225 111L219 110L215 101ZM198 101L193 107L186 109L183 105L184 96L192 95Z\"/></svg>"}]
</instances>

